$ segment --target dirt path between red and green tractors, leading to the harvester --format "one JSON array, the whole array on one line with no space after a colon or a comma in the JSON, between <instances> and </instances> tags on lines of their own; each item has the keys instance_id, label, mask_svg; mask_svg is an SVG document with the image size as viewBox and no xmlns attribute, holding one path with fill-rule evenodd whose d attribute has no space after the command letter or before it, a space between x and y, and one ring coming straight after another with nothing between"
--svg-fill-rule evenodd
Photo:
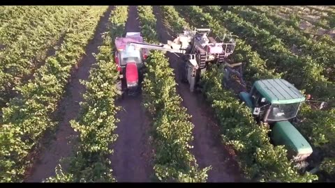
<instances>
[{"instance_id":1,"label":"dirt path between red and green tractors, leading to the harvester","mask_svg":"<svg viewBox=\"0 0 335 188\"><path fill-rule=\"evenodd\" d=\"M156 15L157 25L156 31L162 43L167 43L172 40L162 22L161 11L158 6L154 6L154 14ZM170 32L169 32L170 33ZM200 166L212 166L209 171L207 182L239 182L241 175L237 162L232 159L228 150L221 143L221 136L214 120L211 120L212 115L207 111L207 106L202 102L200 96L191 93L188 84L182 84L179 79L181 59L176 55L167 53L170 60L170 65L174 69L177 81L177 92L183 98L183 106L187 112L191 114L191 122L195 125L193 129L193 155Z\"/></svg>"}]
</instances>

